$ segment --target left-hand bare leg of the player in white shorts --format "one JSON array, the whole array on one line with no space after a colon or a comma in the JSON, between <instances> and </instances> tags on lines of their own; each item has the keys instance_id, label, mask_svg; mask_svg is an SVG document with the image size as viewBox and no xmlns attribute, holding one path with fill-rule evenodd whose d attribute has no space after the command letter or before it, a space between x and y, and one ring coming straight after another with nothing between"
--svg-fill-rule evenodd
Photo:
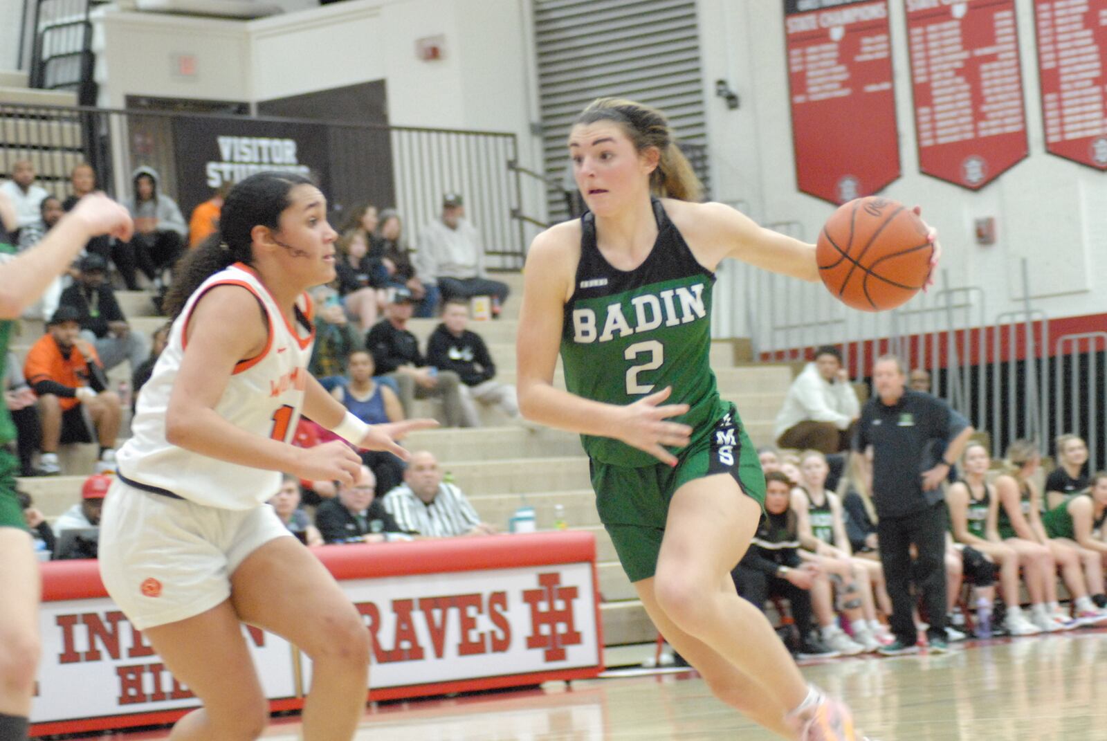
<instances>
[{"instance_id":1,"label":"left-hand bare leg of the player in white shorts","mask_svg":"<svg viewBox=\"0 0 1107 741\"><path fill-rule=\"evenodd\" d=\"M204 707L177 721L172 741L252 741L269 719L242 626L230 600L184 620L146 628L146 640Z\"/></svg>"}]
</instances>

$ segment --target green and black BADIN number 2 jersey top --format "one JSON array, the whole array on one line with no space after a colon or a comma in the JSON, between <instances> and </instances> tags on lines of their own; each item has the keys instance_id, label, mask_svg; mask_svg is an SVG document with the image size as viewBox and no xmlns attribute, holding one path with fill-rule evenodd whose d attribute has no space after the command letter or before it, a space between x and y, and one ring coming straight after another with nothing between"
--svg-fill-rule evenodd
<instances>
[{"instance_id":1,"label":"green and black BADIN number 2 jersey top","mask_svg":"<svg viewBox=\"0 0 1107 741\"><path fill-rule=\"evenodd\" d=\"M645 261L630 271L604 259L592 214L581 217L580 263L561 335L566 388L586 399L627 405L672 387L665 403L690 408L672 421L692 426L695 445L722 414L710 364L715 276L696 261L658 199L653 213L658 239ZM658 462L610 438L582 435L582 442L601 463L637 467Z\"/></svg>"}]
</instances>

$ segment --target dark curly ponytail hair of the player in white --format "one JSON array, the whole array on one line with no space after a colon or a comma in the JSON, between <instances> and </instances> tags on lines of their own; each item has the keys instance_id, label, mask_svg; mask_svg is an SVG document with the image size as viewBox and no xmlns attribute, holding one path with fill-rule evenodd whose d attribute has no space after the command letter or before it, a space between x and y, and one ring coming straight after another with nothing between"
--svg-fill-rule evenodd
<instances>
[{"instance_id":1,"label":"dark curly ponytail hair of the player in white","mask_svg":"<svg viewBox=\"0 0 1107 741\"><path fill-rule=\"evenodd\" d=\"M250 175L227 194L219 213L219 229L194 247L177 264L173 285L165 296L165 310L174 319L200 284L235 263L254 263L254 227L280 228L288 208L288 194L298 185L313 183L293 173L265 172Z\"/></svg>"}]
</instances>

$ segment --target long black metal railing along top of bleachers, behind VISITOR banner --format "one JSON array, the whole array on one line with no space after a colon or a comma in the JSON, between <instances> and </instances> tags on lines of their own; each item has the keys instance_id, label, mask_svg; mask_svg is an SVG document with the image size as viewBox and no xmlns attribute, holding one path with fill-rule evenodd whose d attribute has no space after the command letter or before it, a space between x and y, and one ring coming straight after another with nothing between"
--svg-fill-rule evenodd
<instances>
[{"instance_id":1,"label":"long black metal railing along top of bleachers, behind VISITOR banner","mask_svg":"<svg viewBox=\"0 0 1107 741\"><path fill-rule=\"evenodd\" d=\"M30 159L40 184L62 197L81 162L120 199L131 196L135 168L153 167L186 217L225 181L265 168L310 173L337 227L360 203L394 207L412 247L420 227L441 215L443 195L459 193L489 267L523 267L526 209L510 133L0 104L0 172L17 159Z\"/></svg>"}]
</instances>

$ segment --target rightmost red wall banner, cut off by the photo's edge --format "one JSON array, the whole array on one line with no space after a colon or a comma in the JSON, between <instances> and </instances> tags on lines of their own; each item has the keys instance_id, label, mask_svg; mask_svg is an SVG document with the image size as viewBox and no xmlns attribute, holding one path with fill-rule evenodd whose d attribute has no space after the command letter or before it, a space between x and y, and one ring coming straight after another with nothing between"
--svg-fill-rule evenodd
<instances>
[{"instance_id":1,"label":"rightmost red wall banner, cut off by the photo's edge","mask_svg":"<svg viewBox=\"0 0 1107 741\"><path fill-rule=\"evenodd\" d=\"M1034 6L1046 150L1107 169L1107 0Z\"/></svg>"}]
</instances>

